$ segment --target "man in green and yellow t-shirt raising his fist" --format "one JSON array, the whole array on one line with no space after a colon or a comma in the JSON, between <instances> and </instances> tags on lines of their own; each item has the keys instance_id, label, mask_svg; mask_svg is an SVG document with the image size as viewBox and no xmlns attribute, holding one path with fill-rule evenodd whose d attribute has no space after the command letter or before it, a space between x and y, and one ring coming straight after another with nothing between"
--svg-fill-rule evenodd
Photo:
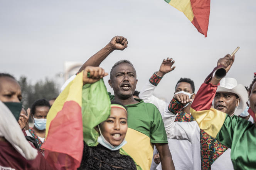
<instances>
[{"instance_id":1,"label":"man in green and yellow t-shirt raising his fist","mask_svg":"<svg viewBox=\"0 0 256 170\"><path fill-rule=\"evenodd\" d=\"M91 56L79 72L86 66L99 66L111 52L124 50L127 44L126 38L115 36L103 49ZM173 170L175 168L160 112L155 105L133 98L137 81L136 70L130 61L121 60L112 67L108 83L113 88L115 96L109 94L109 97L111 100L124 104L128 109L128 130L125 137L127 144L123 150L143 170L149 170L155 144L160 155L162 169Z\"/></svg>"}]
</instances>

